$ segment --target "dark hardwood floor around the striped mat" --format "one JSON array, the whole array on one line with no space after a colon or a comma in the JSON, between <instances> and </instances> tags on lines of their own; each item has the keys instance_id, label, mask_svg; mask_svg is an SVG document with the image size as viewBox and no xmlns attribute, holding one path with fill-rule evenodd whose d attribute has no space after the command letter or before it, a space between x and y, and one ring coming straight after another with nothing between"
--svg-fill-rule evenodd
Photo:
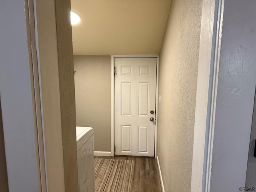
<instances>
[{"instance_id":1,"label":"dark hardwood floor around the striped mat","mask_svg":"<svg viewBox=\"0 0 256 192\"><path fill-rule=\"evenodd\" d=\"M95 158L135 160L132 192L162 192L156 158L135 156L95 156Z\"/></svg>"}]
</instances>

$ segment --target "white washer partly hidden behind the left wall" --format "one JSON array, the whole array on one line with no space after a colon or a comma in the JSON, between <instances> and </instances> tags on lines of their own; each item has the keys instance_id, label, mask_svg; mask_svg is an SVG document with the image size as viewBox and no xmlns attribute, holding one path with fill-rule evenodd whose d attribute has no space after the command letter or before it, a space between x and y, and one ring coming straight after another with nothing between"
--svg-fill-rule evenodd
<instances>
[{"instance_id":1,"label":"white washer partly hidden behind the left wall","mask_svg":"<svg viewBox=\"0 0 256 192\"><path fill-rule=\"evenodd\" d=\"M76 127L79 192L94 192L94 132L91 127Z\"/></svg>"}]
</instances>

